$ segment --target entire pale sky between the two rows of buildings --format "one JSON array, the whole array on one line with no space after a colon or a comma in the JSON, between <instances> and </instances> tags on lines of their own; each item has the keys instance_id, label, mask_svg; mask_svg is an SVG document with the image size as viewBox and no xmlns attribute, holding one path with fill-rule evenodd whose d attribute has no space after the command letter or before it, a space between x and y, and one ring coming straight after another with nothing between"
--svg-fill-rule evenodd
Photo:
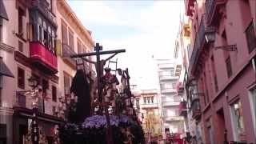
<instances>
[{"instance_id":1,"label":"entire pale sky between the two rows of buildings","mask_svg":"<svg viewBox=\"0 0 256 144\"><path fill-rule=\"evenodd\" d=\"M140 89L158 88L154 59L173 58L183 0L70 0L68 3L103 50L126 49L126 53L113 60L118 58L118 67L129 68L131 84Z\"/></svg>"}]
</instances>

